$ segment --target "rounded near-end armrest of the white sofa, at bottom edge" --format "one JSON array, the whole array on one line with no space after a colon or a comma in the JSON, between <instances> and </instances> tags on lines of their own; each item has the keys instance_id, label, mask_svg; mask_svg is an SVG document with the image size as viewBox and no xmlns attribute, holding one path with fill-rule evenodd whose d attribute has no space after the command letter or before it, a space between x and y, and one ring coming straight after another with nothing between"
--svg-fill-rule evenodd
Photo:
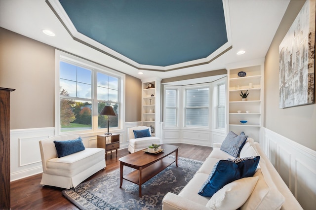
<instances>
[{"instance_id":1,"label":"rounded near-end armrest of the white sofa, at bottom edge","mask_svg":"<svg viewBox=\"0 0 316 210\"><path fill-rule=\"evenodd\" d=\"M163 197L162 210L209 210L209 208L168 192Z\"/></svg>"}]
</instances>

